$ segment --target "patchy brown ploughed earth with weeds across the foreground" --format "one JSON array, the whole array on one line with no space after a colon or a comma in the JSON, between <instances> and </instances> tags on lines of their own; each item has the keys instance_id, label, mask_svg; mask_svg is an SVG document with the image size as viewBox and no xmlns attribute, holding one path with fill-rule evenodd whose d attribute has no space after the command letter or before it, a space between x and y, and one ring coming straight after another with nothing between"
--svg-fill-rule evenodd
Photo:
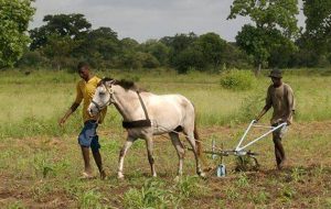
<instances>
[{"instance_id":1,"label":"patchy brown ploughed earth with weeds across the foreground","mask_svg":"<svg viewBox=\"0 0 331 209\"><path fill-rule=\"evenodd\" d=\"M209 128L201 130L201 136L206 145L216 139L217 144L233 147L233 138L243 129L244 125ZM126 158L126 179L117 180L117 155L125 132L111 130L102 135L102 154L109 175L106 180L78 178L83 162L75 136L6 140L0 145L0 207L135 208L139 204L130 204L128 196L134 198L137 194L132 195L132 189L139 194L147 187L159 191L145 194L146 202L169 208L331 207L331 121L291 127L284 142L288 164L281 172L275 169L273 142L267 139L253 147L260 154L259 170L234 172L235 160L228 157L224 178L215 177L214 170L206 179L195 177L192 153L188 152L182 183L174 182L177 155L163 138L156 139L158 178L150 177L145 144L138 142Z\"/></svg>"}]
</instances>

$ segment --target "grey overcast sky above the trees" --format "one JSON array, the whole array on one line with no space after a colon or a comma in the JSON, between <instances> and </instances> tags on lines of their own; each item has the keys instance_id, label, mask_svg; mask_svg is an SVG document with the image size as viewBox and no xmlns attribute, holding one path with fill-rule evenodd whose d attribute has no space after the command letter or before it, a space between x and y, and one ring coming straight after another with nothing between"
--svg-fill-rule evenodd
<instances>
[{"instance_id":1,"label":"grey overcast sky above the trees","mask_svg":"<svg viewBox=\"0 0 331 209\"><path fill-rule=\"evenodd\" d=\"M233 0L36 0L30 29L43 25L43 16L58 13L82 13L93 29L109 26L119 38L139 42L149 38L194 32L201 35L215 32L234 41L247 18L226 20ZM301 3L300 3L301 4ZM300 12L299 25L305 16Z\"/></svg>"}]
</instances>

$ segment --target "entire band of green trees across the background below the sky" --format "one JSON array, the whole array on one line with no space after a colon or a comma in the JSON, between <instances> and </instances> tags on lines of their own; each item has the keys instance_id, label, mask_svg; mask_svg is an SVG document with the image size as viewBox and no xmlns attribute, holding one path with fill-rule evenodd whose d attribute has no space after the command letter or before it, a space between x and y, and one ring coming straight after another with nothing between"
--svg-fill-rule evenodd
<instances>
[{"instance_id":1,"label":"entire band of green trees across the background below the sky","mask_svg":"<svg viewBox=\"0 0 331 209\"><path fill-rule=\"evenodd\" d=\"M252 20L235 43L212 32L138 43L119 38L110 28L93 29L84 14L46 15L44 25L25 33L34 13L31 1L3 0L0 7L0 68L63 69L78 61L96 68L171 67L179 73L331 66L331 0L303 0L305 29L298 28L298 0L234 0L228 20Z\"/></svg>"}]
</instances>

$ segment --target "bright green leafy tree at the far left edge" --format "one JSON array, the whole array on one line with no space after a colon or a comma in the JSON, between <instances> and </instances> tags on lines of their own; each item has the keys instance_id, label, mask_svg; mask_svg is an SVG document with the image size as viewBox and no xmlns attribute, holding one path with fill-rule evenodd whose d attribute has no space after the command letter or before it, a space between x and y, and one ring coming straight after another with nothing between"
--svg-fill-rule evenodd
<instances>
[{"instance_id":1,"label":"bright green leafy tree at the far left edge","mask_svg":"<svg viewBox=\"0 0 331 209\"><path fill-rule=\"evenodd\" d=\"M13 66L30 38L25 35L34 14L30 0L0 0L0 67Z\"/></svg>"}]
</instances>

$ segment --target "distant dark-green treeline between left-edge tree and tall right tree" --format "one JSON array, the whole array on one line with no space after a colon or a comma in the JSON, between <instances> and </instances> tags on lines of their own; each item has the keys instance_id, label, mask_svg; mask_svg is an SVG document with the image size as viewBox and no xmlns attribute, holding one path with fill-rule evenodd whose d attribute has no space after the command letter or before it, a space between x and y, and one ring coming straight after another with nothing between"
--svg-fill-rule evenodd
<instances>
[{"instance_id":1,"label":"distant dark-green treeline between left-edge tree and tall right tree","mask_svg":"<svg viewBox=\"0 0 331 209\"><path fill-rule=\"evenodd\" d=\"M82 59L96 68L173 67L180 73L249 66L245 53L215 33L177 34L138 43L118 38L110 28L92 29L83 14L46 15L43 21L43 26L29 32L32 42L19 67L72 68Z\"/></svg>"}]
</instances>

